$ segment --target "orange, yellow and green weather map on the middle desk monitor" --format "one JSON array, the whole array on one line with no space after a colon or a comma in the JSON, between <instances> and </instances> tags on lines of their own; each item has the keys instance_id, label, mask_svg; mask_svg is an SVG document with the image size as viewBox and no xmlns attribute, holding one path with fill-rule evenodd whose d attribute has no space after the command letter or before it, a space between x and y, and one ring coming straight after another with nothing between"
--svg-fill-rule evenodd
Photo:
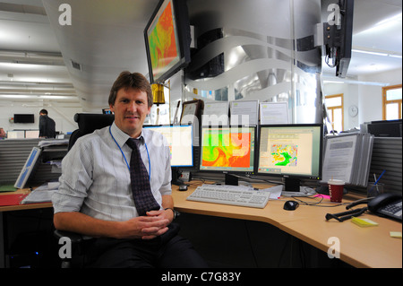
<instances>
[{"instance_id":1,"label":"orange, yellow and green weather map on the middle desk monitor","mask_svg":"<svg viewBox=\"0 0 403 286\"><path fill-rule=\"evenodd\" d=\"M248 136L247 140L242 136ZM208 140L209 144L207 146L204 145L201 151L202 166L249 167L251 157L251 134L215 134Z\"/></svg>"}]
</instances>

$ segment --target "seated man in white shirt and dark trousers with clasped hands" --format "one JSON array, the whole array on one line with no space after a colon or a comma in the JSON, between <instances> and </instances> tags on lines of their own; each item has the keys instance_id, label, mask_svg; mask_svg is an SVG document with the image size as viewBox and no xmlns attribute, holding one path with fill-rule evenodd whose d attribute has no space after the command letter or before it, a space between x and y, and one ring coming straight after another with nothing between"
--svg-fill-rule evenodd
<instances>
[{"instance_id":1,"label":"seated man in white shirt and dark trousers with clasped hands","mask_svg":"<svg viewBox=\"0 0 403 286\"><path fill-rule=\"evenodd\" d=\"M112 126L79 138L62 162L59 190L52 198L57 230L93 239L92 266L205 267L184 238L178 237L171 195L169 149L162 137L142 129L150 113L150 83L141 74L119 75L109 94ZM139 138L141 159L150 175L159 210L139 215L133 203L127 139Z\"/></svg>"}]
</instances>

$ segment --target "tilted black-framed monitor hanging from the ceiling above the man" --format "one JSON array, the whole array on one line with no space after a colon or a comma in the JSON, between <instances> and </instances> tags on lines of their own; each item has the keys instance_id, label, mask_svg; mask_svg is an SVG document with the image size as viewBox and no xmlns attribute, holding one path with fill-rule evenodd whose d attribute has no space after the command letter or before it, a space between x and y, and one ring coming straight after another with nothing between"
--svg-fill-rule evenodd
<instances>
[{"instance_id":1,"label":"tilted black-framed monitor hanging from the ceiling above the man","mask_svg":"<svg viewBox=\"0 0 403 286\"><path fill-rule=\"evenodd\" d=\"M144 39L151 83L163 83L191 60L190 23L185 0L160 0Z\"/></svg>"}]
</instances>

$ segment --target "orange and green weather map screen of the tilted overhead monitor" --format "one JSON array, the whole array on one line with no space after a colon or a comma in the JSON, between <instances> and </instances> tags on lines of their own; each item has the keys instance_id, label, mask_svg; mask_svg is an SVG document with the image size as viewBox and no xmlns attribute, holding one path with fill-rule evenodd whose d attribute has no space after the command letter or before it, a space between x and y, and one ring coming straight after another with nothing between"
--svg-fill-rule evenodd
<instances>
[{"instance_id":1,"label":"orange and green weather map screen of the tilted overhead monitor","mask_svg":"<svg viewBox=\"0 0 403 286\"><path fill-rule=\"evenodd\" d=\"M148 33L154 78L176 65L180 59L172 2L166 1L164 4L166 7L157 15Z\"/></svg>"}]
</instances>

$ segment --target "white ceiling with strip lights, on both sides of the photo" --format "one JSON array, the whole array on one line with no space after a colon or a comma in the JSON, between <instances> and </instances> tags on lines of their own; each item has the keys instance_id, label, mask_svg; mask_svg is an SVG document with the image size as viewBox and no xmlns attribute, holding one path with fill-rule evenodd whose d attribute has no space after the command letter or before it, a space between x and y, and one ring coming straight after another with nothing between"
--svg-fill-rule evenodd
<instances>
[{"instance_id":1,"label":"white ceiling with strip lights, on both sides of the photo","mask_svg":"<svg viewBox=\"0 0 403 286\"><path fill-rule=\"evenodd\" d=\"M121 71L148 74L142 32L158 2L0 0L0 100L64 95L58 100L79 102L78 95L84 110L107 107ZM72 7L71 26L58 23L64 3ZM401 0L356 0L353 48L401 56L401 13ZM401 57L354 52L347 75L359 79L401 66ZM334 73L323 67L324 75Z\"/></svg>"}]
</instances>

